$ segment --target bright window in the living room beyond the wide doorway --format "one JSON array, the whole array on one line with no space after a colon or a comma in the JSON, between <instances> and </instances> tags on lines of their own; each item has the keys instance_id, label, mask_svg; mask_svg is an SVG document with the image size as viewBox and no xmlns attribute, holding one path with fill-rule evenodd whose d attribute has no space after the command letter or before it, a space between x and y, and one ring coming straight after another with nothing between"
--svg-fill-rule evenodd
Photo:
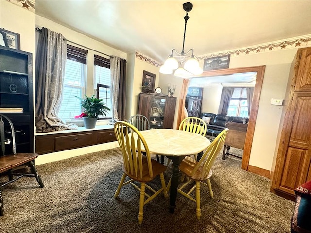
<instances>
[{"instance_id":1,"label":"bright window in the living room beyond the wide doorway","mask_svg":"<svg viewBox=\"0 0 311 233\"><path fill-rule=\"evenodd\" d=\"M234 88L228 107L228 116L241 116L248 118L246 88Z\"/></svg>"}]
</instances>

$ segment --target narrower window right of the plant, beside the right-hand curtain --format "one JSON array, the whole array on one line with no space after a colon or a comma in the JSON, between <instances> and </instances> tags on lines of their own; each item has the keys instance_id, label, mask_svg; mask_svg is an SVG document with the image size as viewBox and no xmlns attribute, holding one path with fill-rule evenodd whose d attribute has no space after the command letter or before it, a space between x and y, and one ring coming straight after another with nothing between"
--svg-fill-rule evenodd
<instances>
[{"instance_id":1,"label":"narrower window right of the plant, beside the right-hand curtain","mask_svg":"<svg viewBox=\"0 0 311 233\"><path fill-rule=\"evenodd\" d=\"M110 99L110 60L94 55L94 85L96 97L103 99L103 102L111 109ZM106 116L99 116L99 119L111 119L111 111Z\"/></svg>"}]
</instances>

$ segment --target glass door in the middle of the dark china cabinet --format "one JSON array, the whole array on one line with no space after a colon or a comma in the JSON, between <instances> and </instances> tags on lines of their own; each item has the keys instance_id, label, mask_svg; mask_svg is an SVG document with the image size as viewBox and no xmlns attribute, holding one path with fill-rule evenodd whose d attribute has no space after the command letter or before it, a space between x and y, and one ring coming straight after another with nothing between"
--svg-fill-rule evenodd
<instances>
[{"instance_id":1,"label":"glass door in the middle of the dark china cabinet","mask_svg":"<svg viewBox=\"0 0 311 233\"><path fill-rule=\"evenodd\" d=\"M163 128L165 104L166 98L151 97L149 115L150 128Z\"/></svg>"}]
</instances>

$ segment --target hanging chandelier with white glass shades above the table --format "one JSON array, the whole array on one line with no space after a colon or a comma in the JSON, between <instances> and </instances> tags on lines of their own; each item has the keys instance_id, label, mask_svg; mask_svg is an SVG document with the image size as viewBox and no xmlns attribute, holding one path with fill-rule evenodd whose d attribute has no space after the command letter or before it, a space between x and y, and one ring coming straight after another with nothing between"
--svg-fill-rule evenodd
<instances>
[{"instance_id":1,"label":"hanging chandelier with white glass shades above the table","mask_svg":"<svg viewBox=\"0 0 311 233\"><path fill-rule=\"evenodd\" d=\"M164 65L160 67L160 73L162 74L172 74L175 70L174 75L177 77L192 77L193 75L202 74L203 69L199 66L199 61L196 56L193 55L193 50L190 49L188 52L184 52L185 46L185 36L186 36L186 26L187 20L189 19L188 12L192 10L192 3L186 2L183 4L184 10L187 12L185 19L185 30L184 30L184 40L183 40L183 49L181 52L173 49L171 55L166 59ZM173 55L173 52L177 55ZM192 52L191 55L187 55Z\"/></svg>"}]
</instances>

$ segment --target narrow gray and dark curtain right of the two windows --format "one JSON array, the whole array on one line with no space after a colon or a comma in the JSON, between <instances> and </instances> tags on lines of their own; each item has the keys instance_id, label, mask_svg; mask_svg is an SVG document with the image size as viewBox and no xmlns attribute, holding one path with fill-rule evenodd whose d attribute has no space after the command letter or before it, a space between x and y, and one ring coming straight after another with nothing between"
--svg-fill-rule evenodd
<instances>
[{"instance_id":1,"label":"narrow gray and dark curtain right of the two windows","mask_svg":"<svg viewBox=\"0 0 311 233\"><path fill-rule=\"evenodd\" d=\"M126 120L126 60L112 56L110 58L111 72L111 113L112 121Z\"/></svg>"}]
</instances>

